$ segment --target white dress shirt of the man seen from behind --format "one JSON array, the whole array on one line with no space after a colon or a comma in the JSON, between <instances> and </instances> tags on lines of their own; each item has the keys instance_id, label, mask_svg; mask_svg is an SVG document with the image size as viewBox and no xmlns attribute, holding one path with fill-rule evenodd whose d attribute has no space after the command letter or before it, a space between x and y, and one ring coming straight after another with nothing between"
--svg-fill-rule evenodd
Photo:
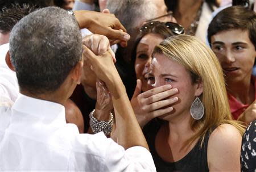
<instances>
[{"instance_id":1,"label":"white dress shirt of the man seen from behind","mask_svg":"<svg viewBox=\"0 0 256 172\"><path fill-rule=\"evenodd\" d=\"M0 171L155 171L147 149L127 150L103 132L79 134L64 106L19 95L1 143Z\"/></svg>"}]
</instances>

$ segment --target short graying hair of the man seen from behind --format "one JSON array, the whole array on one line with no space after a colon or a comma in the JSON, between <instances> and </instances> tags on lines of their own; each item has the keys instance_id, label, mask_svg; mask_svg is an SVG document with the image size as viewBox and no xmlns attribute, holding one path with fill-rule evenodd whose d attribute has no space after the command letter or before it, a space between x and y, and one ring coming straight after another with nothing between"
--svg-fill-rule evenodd
<instances>
[{"instance_id":1,"label":"short graying hair of the man seen from behind","mask_svg":"<svg viewBox=\"0 0 256 172\"><path fill-rule=\"evenodd\" d=\"M10 33L10 57L20 90L42 94L57 90L81 60L76 19L58 7L36 10Z\"/></svg>"}]
</instances>

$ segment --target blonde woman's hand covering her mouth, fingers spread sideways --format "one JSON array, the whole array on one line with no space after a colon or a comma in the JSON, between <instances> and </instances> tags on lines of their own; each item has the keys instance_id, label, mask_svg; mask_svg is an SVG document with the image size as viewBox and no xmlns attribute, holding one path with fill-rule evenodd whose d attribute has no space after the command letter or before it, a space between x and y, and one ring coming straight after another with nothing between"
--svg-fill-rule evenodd
<instances>
[{"instance_id":1,"label":"blonde woman's hand covering her mouth, fingers spread sideways","mask_svg":"<svg viewBox=\"0 0 256 172\"><path fill-rule=\"evenodd\" d=\"M171 104L177 102L178 98L169 98L177 93L171 85L156 87L141 93L142 82L137 79L137 86L131 98L131 106L141 128L151 119L167 114L173 110ZM168 106L168 107L166 107Z\"/></svg>"}]
</instances>

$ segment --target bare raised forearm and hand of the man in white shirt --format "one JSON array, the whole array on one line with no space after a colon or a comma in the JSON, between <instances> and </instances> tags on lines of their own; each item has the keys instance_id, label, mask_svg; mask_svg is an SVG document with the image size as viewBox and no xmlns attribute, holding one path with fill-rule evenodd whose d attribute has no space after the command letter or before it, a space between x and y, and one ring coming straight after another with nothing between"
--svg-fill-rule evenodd
<instances>
[{"instance_id":1,"label":"bare raised forearm and hand of the man in white shirt","mask_svg":"<svg viewBox=\"0 0 256 172\"><path fill-rule=\"evenodd\" d=\"M112 95L118 144L125 149L133 146L143 146L148 150L146 139L135 118L125 86L119 77L110 53L106 52L96 56L84 46L84 57L90 61L97 77L106 83Z\"/></svg>"}]
</instances>

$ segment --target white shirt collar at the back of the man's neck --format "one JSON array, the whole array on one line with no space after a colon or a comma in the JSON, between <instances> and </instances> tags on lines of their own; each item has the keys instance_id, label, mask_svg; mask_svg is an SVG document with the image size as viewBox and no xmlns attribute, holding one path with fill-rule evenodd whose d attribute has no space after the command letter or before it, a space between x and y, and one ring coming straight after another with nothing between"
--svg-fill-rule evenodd
<instances>
[{"instance_id":1,"label":"white shirt collar at the back of the man's neck","mask_svg":"<svg viewBox=\"0 0 256 172\"><path fill-rule=\"evenodd\" d=\"M19 94L12 107L13 110L36 116L36 118L65 121L65 107L59 103L49 102L47 100L27 97Z\"/></svg>"}]
</instances>

